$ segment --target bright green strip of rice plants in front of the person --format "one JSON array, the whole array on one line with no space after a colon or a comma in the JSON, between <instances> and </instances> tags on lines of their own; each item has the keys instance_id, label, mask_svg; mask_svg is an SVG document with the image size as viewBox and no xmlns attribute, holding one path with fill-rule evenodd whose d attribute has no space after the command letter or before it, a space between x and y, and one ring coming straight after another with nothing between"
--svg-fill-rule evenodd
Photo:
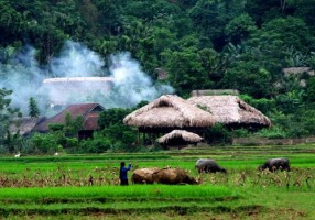
<instances>
[{"instance_id":1,"label":"bright green strip of rice plants in front of the person","mask_svg":"<svg viewBox=\"0 0 315 220\"><path fill-rule=\"evenodd\" d=\"M131 185L93 187L0 188L0 199L45 198L211 198L232 196L225 186Z\"/></svg>"}]
</instances>

